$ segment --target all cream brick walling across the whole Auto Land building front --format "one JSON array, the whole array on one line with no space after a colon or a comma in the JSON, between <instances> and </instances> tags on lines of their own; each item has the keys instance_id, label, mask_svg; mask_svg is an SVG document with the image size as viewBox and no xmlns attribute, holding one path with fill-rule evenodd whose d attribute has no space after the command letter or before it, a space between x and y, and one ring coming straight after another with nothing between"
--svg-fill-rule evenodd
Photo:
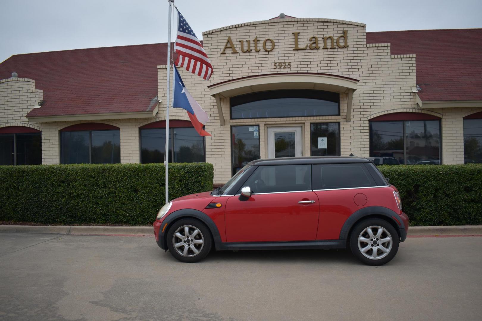
<instances>
[{"instance_id":1,"label":"all cream brick walling across the whole Auto Land building front","mask_svg":"<svg viewBox=\"0 0 482 321\"><path fill-rule=\"evenodd\" d=\"M317 36L336 39L348 31L348 48L294 51L293 32L299 32L299 45ZM239 53L227 50L221 54L226 39L231 37ZM422 112L442 117L442 162L463 163L463 117L482 108L441 108L421 110L415 103L415 55L391 55L390 45L366 44L365 25L332 19L283 19L228 26L203 33L204 48L214 66L209 81L179 68L189 92L210 116L206 130L206 161L214 164L214 183L224 183L231 177L230 126L259 125L261 157L267 157L267 126L301 125L305 128L303 154L310 154L309 123L339 122L341 154L368 156L368 120L387 113ZM239 40L266 38L275 41L273 51L242 53ZM245 44L246 45L246 44ZM273 69L274 62L291 62L291 69ZM346 121L348 95L340 95L340 116L229 119L229 99L221 99L225 125L220 125L216 102L209 95L208 85L222 81L268 73L310 72L327 73L360 80L353 94L351 121ZM120 159L122 163L139 162L139 127L165 120L166 66L158 66L158 87L161 103L156 117L148 119L114 119L83 121L107 123L120 128ZM42 130L42 163L58 164L60 159L59 130L80 122L29 123L27 113L43 99L35 81L26 78L0 80L0 127L28 126ZM170 119L189 120L183 109L171 109Z\"/></svg>"}]
</instances>

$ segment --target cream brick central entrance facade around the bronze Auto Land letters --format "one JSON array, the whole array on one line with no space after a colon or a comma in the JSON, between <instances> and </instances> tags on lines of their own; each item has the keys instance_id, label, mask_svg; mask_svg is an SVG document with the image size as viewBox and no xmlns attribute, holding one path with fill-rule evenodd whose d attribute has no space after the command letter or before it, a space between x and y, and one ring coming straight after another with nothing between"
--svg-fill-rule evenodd
<instances>
[{"instance_id":1,"label":"cream brick central entrance facade around the bronze Auto Land letters","mask_svg":"<svg viewBox=\"0 0 482 321\"><path fill-rule=\"evenodd\" d=\"M309 43L311 36L337 36L348 31L348 48L294 51L292 33L299 32L299 45ZM368 156L367 117L384 110L418 108L412 88L415 84L415 56L391 55L389 44L366 44L365 26L326 19L284 19L243 24L235 28L221 28L203 33L203 46L214 67L209 81L179 68L189 92L209 114L206 130L213 137L206 138L206 161L214 164L214 182L223 183L231 177L230 126L260 125L261 157L267 157L266 125L293 124L305 127L303 154L310 154L309 123L340 122L341 154ZM228 36L239 53L222 54ZM242 53L239 40L270 38L275 41L273 51ZM252 41L253 42L253 41ZM245 45L246 46L246 45ZM253 43L251 44L253 49ZM273 62L291 62L291 69L273 69ZM229 119L229 100L222 99L225 126L221 127L216 103L209 95L208 85L252 75L284 72L327 73L360 80L353 94L351 122L346 122L347 95L341 95L340 116ZM159 97L163 103L160 114L165 115L166 68L159 68ZM180 113L185 114L184 111ZM175 116L171 116L174 118Z\"/></svg>"}]
</instances>

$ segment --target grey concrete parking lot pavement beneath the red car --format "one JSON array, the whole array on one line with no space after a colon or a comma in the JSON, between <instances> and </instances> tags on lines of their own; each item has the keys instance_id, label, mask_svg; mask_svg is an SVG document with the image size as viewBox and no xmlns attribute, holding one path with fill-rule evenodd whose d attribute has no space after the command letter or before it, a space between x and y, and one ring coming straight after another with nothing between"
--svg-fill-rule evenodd
<instances>
[{"instance_id":1,"label":"grey concrete parking lot pavement beneath the red car","mask_svg":"<svg viewBox=\"0 0 482 321\"><path fill-rule=\"evenodd\" d=\"M3 320L480 320L482 237L409 238L385 266L347 250L214 252L154 237L0 233Z\"/></svg>"}]
</instances>

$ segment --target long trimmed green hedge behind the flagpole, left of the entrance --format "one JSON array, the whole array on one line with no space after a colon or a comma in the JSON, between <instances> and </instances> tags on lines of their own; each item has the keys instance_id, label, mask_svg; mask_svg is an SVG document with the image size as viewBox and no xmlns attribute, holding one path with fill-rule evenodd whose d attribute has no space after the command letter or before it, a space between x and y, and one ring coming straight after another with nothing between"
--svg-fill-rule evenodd
<instances>
[{"instance_id":1,"label":"long trimmed green hedge behind the flagpole, left of the entrance","mask_svg":"<svg viewBox=\"0 0 482 321\"><path fill-rule=\"evenodd\" d=\"M169 164L169 198L213 188L213 165ZM162 164L0 166L0 220L152 224L165 201Z\"/></svg>"}]
</instances>

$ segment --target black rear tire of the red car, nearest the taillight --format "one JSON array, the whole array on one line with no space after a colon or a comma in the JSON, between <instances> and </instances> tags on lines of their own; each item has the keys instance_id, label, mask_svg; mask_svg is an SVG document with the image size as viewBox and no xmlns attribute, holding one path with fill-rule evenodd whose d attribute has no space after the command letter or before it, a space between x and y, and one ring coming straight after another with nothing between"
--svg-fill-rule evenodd
<instances>
[{"instance_id":1,"label":"black rear tire of the red car, nearest the taillight","mask_svg":"<svg viewBox=\"0 0 482 321\"><path fill-rule=\"evenodd\" d=\"M368 228L373 227L371 229L373 237L370 237L370 234L367 230ZM378 228L382 228L381 235L377 237ZM383 229L385 231L383 231ZM361 233L363 234L361 235ZM387 234L389 233L389 235ZM368 242L360 241L359 247L359 237L362 236L363 240L367 239ZM387 240L387 238L391 238L391 245L388 242L381 243L380 241ZM372 266L380 266L388 263L398 251L398 246L400 243L400 237L395 230L395 228L388 223L386 220L381 218L368 218L364 219L361 222L357 223L353 230L350 233L350 248L351 252L355 257L357 257L360 261L367 265ZM367 249L368 247L368 249ZM366 250L365 254L363 254L362 250ZM388 250L386 253L385 250ZM376 251L376 254L374 254ZM378 258L374 258L378 257Z\"/></svg>"}]
</instances>

